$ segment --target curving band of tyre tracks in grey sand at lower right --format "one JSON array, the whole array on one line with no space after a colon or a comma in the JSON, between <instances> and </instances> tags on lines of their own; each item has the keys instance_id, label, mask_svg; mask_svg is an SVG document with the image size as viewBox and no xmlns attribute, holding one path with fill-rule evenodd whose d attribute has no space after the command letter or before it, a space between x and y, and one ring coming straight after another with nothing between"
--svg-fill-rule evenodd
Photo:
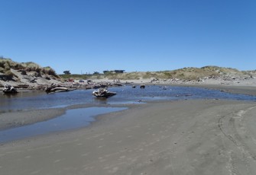
<instances>
[{"instance_id":1,"label":"curving band of tyre tracks in grey sand at lower right","mask_svg":"<svg viewBox=\"0 0 256 175\"><path fill-rule=\"evenodd\" d=\"M227 148L227 168L230 174L254 174L256 168L256 144L248 132L245 118L256 107L248 107L219 118L218 126L225 138L232 142ZM250 136L251 135L251 136ZM225 142L225 141L224 141ZM230 143L230 142L229 142ZM227 144L228 145L228 144Z\"/></svg>"}]
</instances>

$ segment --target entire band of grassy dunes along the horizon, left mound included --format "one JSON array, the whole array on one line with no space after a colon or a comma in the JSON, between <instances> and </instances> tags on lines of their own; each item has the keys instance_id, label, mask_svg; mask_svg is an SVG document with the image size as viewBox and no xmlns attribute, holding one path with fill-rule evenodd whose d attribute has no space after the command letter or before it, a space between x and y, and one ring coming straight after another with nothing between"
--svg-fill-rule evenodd
<instances>
[{"instance_id":1,"label":"entire band of grassy dunes along the horizon, left mound included","mask_svg":"<svg viewBox=\"0 0 256 175\"><path fill-rule=\"evenodd\" d=\"M108 72L100 74L96 72L92 75L74 75L74 74L63 74L57 75L53 68L41 67L34 62L14 62L11 59L5 59L0 57L0 75L7 77L15 77L15 73L12 70L17 70L23 75L27 75L28 72L35 72L37 76L51 75L55 78L67 79L109 79L109 80L140 80L140 79L180 79L180 80L193 80L198 81L202 78L250 78L256 76L256 70L252 71L239 71L235 68L223 68L219 66L209 65L202 68L180 68L176 70L166 70L159 72L125 72L115 73Z\"/></svg>"}]
</instances>

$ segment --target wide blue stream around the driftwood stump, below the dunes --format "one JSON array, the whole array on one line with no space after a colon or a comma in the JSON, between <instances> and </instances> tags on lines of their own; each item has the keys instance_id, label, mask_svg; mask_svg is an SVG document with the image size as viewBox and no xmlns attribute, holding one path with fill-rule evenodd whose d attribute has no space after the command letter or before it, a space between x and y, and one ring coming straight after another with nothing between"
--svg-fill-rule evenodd
<instances>
[{"instance_id":1,"label":"wide blue stream around the driftwood stump, below the dunes","mask_svg":"<svg viewBox=\"0 0 256 175\"><path fill-rule=\"evenodd\" d=\"M139 103L144 100L185 100L185 99L227 99L227 100L256 100L255 96L243 94L228 94L221 91L198 87L159 87L132 88L131 86L111 87L109 91L117 95L108 99L98 99L92 96L93 90L76 90L64 93L46 94L44 92L18 93L7 97L1 95L0 113L13 110L33 110L52 107L67 107L73 104L117 104Z\"/></svg>"}]
</instances>

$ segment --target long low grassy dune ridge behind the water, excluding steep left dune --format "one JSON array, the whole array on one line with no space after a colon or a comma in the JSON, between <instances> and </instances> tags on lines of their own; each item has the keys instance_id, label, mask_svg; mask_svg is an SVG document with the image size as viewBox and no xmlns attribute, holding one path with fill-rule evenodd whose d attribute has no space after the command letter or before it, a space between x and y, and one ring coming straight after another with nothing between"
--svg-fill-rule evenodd
<instances>
[{"instance_id":1,"label":"long low grassy dune ridge behind the water, excluding steep left dune","mask_svg":"<svg viewBox=\"0 0 256 175\"><path fill-rule=\"evenodd\" d=\"M202 68L180 68L170 71L159 72L125 72L125 73L108 73L92 75L60 75L61 78L73 79L119 79L119 80L140 80L140 79L173 79L194 80L202 78L219 78L219 77L251 77L255 76L256 71L239 71L235 68L223 68L219 66L205 66Z\"/></svg>"}]
</instances>

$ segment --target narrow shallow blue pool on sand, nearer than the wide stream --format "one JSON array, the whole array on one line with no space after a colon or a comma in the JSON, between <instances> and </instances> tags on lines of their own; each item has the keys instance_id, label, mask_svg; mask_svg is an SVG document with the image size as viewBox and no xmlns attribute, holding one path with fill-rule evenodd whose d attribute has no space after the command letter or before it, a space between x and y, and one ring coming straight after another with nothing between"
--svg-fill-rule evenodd
<instances>
[{"instance_id":1,"label":"narrow shallow blue pool on sand, nearer than the wide stream","mask_svg":"<svg viewBox=\"0 0 256 175\"><path fill-rule=\"evenodd\" d=\"M0 132L0 142L10 142L15 139L27 138L34 135L42 135L49 132L59 132L66 129L76 129L88 126L95 121L94 116L125 110L125 107L88 107L75 110L67 110L66 114L44 122L37 122L29 126L21 126Z\"/></svg>"}]
</instances>

